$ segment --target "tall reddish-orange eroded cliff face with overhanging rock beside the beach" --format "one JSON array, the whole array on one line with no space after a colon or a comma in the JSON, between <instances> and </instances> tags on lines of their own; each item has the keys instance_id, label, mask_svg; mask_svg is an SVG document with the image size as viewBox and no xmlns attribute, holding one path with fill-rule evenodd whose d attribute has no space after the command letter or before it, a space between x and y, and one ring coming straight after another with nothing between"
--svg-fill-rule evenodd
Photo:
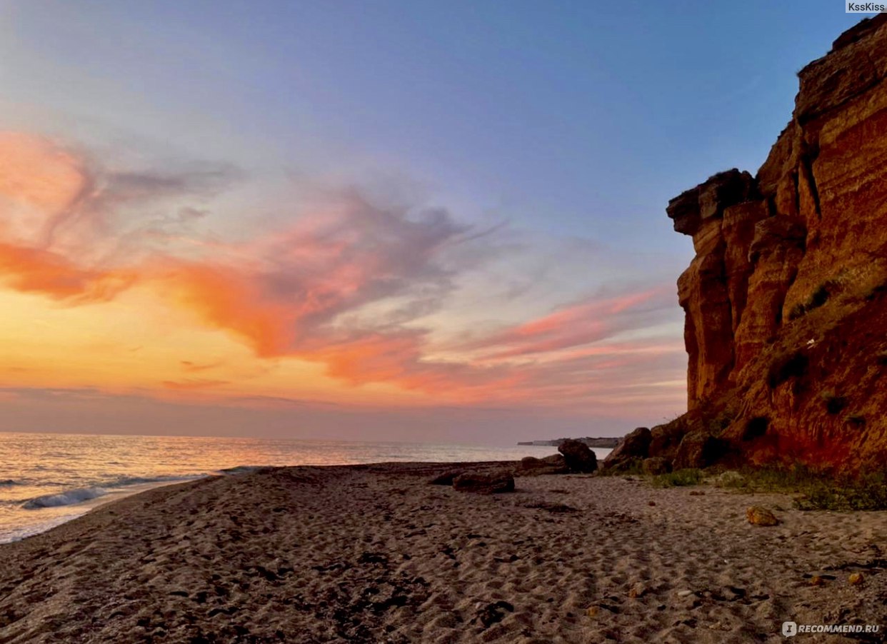
<instances>
[{"instance_id":1,"label":"tall reddish-orange eroded cliff face with overhanging rock beside the beach","mask_svg":"<svg viewBox=\"0 0 887 644\"><path fill-rule=\"evenodd\" d=\"M647 456L709 436L691 465L887 464L887 15L799 77L757 176L722 172L669 203L696 252L678 281L689 412L654 428Z\"/></svg>"}]
</instances>

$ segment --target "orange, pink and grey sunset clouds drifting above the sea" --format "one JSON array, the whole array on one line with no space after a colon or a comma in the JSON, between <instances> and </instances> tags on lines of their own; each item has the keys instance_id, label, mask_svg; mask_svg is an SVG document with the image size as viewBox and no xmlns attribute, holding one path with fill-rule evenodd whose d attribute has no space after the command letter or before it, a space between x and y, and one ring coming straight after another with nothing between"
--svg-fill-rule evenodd
<instances>
[{"instance_id":1,"label":"orange, pink and grey sunset clouds drifting above the sea","mask_svg":"<svg viewBox=\"0 0 887 644\"><path fill-rule=\"evenodd\" d=\"M670 285L586 296L434 346L429 315L458 290L465 266L496 247L501 224L475 228L443 208L382 206L347 188L252 238L198 232L211 218L208 200L240 177L224 163L110 169L43 137L0 135L0 281L70 306L146 287L260 359L294 357L348 385L456 402L616 395L613 375L636 378L645 365L659 366L641 381L669 380L675 348L625 334L662 324ZM182 360L179 374L190 375L161 386L222 388L224 375L198 377L214 367Z\"/></svg>"}]
</instances>

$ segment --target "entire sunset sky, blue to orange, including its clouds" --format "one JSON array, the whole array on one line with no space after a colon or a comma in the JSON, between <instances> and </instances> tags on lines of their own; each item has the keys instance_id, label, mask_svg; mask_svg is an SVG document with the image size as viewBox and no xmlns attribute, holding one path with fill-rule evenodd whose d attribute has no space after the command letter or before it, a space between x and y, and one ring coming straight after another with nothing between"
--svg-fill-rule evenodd
<instances>
[{"instance_id":1,"label":"entire sunset sky, blue to orange, including its clouds","mask_svg":"<svg viewBox=\"0 0 887 644\"><path fill-rule=\"evenodd\" d=\"M841 2L0 0L0 431L512 444L686 409L667 201Z\"/></svg>"}]
</instances>

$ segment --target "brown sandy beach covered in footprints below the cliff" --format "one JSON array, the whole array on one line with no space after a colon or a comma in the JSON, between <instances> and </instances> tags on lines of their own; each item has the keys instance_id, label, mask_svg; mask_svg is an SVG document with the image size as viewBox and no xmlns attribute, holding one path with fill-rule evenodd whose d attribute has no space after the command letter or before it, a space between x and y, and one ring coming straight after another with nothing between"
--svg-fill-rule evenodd
<instances>
[{"instance_id":1,"label":"brown sandy beach covered in footprints below the cliff","mask_svg":"<svg viewBox=\"0 0 887 644\"><path fill-rule=\"evenodd\" d=\"M519 477L490 496L428 483L451 468L269 468L99 507L0 546L0 642L775 642L785 620L887 626L887 513L638 477ZM750 505L781 524L750 525Z\"/></svg>"}]
</instances>

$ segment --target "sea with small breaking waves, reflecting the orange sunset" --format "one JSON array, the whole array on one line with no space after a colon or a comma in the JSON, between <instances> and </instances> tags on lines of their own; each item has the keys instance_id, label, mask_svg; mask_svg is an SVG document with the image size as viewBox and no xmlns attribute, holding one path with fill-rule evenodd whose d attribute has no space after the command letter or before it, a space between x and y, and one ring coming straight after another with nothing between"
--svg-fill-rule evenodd
<instances>
[{"instance_id":1,"label":"sea with small breaking waves, reflecting the orange sunset","mask_svg":"<svg viewBox=\"0 0 887 644\"><path fill-rule=\"evenodd\" d=\"M553 447L0 432L0 544L160 485L257 467L519 460ZM594 449L599 459L610 451Z\"/></svg>"}]
</instances>

